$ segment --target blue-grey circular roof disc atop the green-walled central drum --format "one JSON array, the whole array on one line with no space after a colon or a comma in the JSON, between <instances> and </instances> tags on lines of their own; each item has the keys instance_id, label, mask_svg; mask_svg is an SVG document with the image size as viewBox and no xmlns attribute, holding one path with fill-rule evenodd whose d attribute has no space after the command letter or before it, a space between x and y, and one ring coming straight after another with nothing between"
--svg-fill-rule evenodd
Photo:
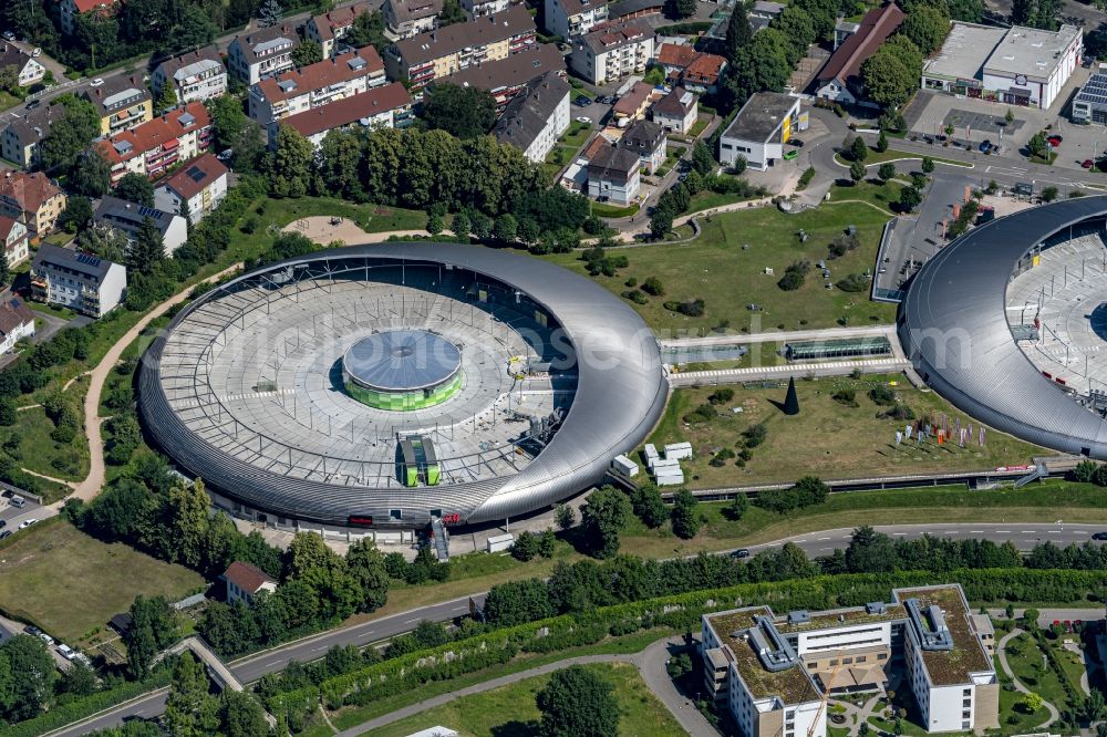
<instances>
[{"instance_id":1,"label":"blue-grey circular roof disc atop the green-walled central drum","mask_svg":"<svg viewBox=\"0 0 1107 737\"><path fill-rule=\"evenodd\" d=\"M381 392L414 392L443 384L461 371L462 352L423 330L392 330L363 338L342 357L360 384Z\"/></svg>"}]
</instances>

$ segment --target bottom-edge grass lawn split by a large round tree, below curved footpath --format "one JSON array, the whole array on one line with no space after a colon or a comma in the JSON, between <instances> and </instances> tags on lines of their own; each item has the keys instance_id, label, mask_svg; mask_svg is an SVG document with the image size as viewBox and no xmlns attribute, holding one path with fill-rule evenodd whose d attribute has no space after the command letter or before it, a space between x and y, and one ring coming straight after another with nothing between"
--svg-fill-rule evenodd
<instances>
[{"instance_id":1,"label":"bottom-edge grass lawn split by a large round tree, below curved footpath","mask_svg":"<svg viewBox=\"0 0 1107 737\"><path fill-rule=\"evenodd\" d=\"M658 737L682 731L669 710L650 692L633 665L597 663L584 666L614 686L619 700L619 734L628 737ZM463 735L499 735L524 737L538 734L541 714L535 696L546 686L549 676L526 678L510 686L484 694L464 696L439 706L434 712L396 722L370 735L401 737L435 725L449 725Z\"/></svg>"}]
</instances>

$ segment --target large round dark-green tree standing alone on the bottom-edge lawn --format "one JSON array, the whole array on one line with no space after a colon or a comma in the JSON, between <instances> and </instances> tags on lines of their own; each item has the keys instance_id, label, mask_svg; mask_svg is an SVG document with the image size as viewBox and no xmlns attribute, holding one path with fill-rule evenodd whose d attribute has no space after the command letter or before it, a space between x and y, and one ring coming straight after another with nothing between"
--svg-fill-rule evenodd
<instances>
[{"instance_id":1,"label":"large round dark-green tree standing alone on the bottom-edge lawn","mask_svg":"<svg viewBox=\"0 0 1107 737\"><path fill-rule=\"evenodd\" d=\"M580 665L557 671L538 692L542 737L608 737L619 733L611 684Z\"/></svg>"}]
</instances>

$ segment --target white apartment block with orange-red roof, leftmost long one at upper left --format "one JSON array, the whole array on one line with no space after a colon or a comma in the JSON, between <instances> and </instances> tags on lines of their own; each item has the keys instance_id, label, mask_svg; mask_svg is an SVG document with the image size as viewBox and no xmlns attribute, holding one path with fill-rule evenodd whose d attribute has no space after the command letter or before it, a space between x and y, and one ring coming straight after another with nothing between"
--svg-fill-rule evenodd
<instances>
[{"instance_id":1,"label":"white apartment block with orange-red roof, leftmost long one at upper left","mask_svg":"<svg viewBox=\"0 0 1107 737\"><path fill-rule=\"evenodd\" d=\"M192 102L96 145L112 167L112 184L115 184L132 172L156 179L178 162L207 150L211 136L207 107Z\"/></svg>"}]
</instances>

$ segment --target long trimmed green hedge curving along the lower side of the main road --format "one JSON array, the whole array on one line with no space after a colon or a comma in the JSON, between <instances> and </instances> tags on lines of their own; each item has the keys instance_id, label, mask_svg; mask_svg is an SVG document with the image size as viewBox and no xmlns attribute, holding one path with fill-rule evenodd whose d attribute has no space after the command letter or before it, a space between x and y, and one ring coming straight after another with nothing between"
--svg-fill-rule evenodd
<instances>
[{"instance_id":1,"label":"long trimmed green hedge curving along the lower side of the main road","mask_svg":"<svg viewBox=\"0 0 1107 737\"><path fill-rule=\"evenodd\" d=\"M314 686L278 694L269 699L273 714L284 713L298 724L319 700L335 709L415 691L423 684L447 681L466 673L507 663L521 652L554 652L588 645L608 634L630 634L639 629L700 627L705 612L752 604L768 604L777 612L825 610L888 601L894 588L960 581L972 601L1094 600L1107 584L1107 571L1028 569L953 570L823 575L770 583L749 583L606 606L538 622L496 630L438 647L408 653L335 676Z\"/></svg>"}]
</instances>

